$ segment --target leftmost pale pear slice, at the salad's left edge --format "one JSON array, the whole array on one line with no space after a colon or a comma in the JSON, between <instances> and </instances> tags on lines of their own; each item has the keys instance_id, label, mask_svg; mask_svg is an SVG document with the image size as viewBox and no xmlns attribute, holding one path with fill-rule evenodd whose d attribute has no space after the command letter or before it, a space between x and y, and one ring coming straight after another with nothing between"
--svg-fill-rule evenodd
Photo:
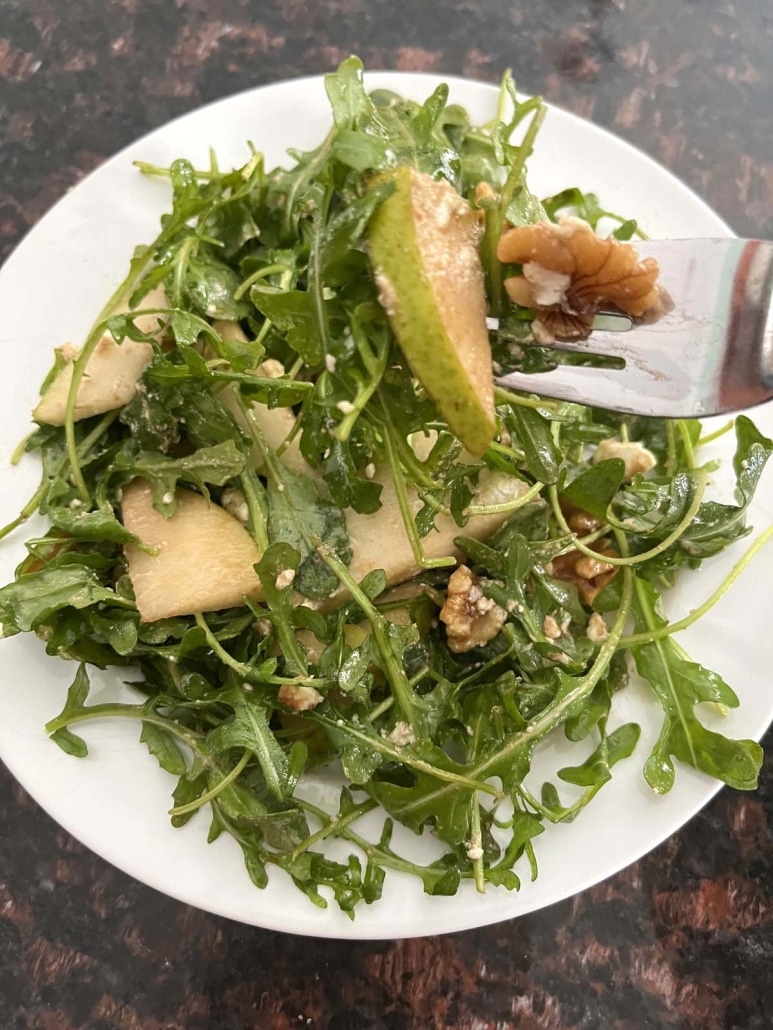
<instances>
[{"instance_id":1,"label":"leftmost pale pear slice, at the salad's left edge","mask_svg":"<svg viewBox=\"0 0 773 1030\"><path fill-rule=\"evenodd\" d=\"M141 308L166 308L169 306L163 286L156 286L143 298ZM128 304L120 304L115 314L130 311ZM142 333L155 333L159 329L159 315L139 315L135 324ZM32 413L36 422L46 425L64 425L67 398L72 382L72 364L78 355L76 347L62 348L67 364L41 397ZM134 397L137 380L153 358L149 343L138 343L128 337L115 343L109 333L105 333L83 370L75 399L74 419L91 415L101 415L105 411L123 408Z\"/></svg>"}]
</instances>

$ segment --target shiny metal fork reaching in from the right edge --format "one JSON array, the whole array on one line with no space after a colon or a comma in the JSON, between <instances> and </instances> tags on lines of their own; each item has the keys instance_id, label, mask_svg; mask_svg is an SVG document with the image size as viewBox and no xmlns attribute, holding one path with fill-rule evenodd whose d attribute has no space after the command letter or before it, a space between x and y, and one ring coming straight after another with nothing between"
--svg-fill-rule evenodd
<instances>
[{"instance_id":1,"label":"shiny metal fork reaching in from the right edge","mask_svg":"<svg viewBox=\"0 0 773 1030\"><path fill-rule=\"evenodd\" d=\"M498 385L664 418L739 411L773 398L773 243L660 240L636 248L657 259L673 309L651 324L554 344L623 358L625 368L561 365L500 376Z\"/></svg>"}]
</instances>

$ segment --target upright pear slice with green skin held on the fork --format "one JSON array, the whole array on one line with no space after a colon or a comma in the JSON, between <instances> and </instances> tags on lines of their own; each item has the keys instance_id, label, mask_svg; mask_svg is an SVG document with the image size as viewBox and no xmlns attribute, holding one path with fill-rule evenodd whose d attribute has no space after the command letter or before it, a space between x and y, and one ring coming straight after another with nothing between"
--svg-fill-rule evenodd
<instances>
[{"instance_id":1,"label":"upright pear slice with green skin held on the fork","mask_svg":"<svg viewBox=\"0 0 773 1030\"><path fill-rule=\"evenodd\" d=\"M465 447L480 455L496 422L474 212L447 182L413 168L376 181L395 184L368 230L379 301L413 375Z\"/></svg>"}]
</instances>

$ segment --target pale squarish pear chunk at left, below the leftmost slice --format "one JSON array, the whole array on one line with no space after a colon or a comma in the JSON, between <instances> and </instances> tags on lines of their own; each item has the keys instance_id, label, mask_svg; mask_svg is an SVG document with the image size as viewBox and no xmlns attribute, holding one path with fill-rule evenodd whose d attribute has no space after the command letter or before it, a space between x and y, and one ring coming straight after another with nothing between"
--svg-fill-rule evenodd
<instances>
[{"instance_id":1,"label":"pale squarish pear chunk at left, below the leftmost slice","mask_svg":"<svg viewBox=\"0 0 773 1030\"><path fill-rule=\"evenodd\" d=\"M122 515L130 533L157 548L147 554L128 545L129 577L143 622L174 615L216 612L260 600L261 581L253 569L258 547L244 526L199 493L177 490L177 510L164 518L153 507L143 479L124 487Z\"/></svg>"}]
</instances>

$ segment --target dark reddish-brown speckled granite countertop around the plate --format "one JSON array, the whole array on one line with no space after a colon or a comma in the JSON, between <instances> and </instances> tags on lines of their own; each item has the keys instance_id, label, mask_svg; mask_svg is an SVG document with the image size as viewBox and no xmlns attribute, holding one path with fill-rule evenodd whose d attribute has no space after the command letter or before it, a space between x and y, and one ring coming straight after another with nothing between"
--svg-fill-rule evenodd
<instances>
[{"instance_id":1,"label":"dark reddish-brown speckled granite countertop around the plate","mask_svg":"<svg viewBox=\"0 0 773 1030\"><path fill-rule=\"evenodd\" d=\"M0 248L119 147L328 70L496 80L613 128L773 237L768 0L0 0ZM773 742L770 742L773 743ZM171 901L0 772L0 1030L773 1027L773 763L647 858L489 929L291 937Z\"/></svg>"}]
</instances>

